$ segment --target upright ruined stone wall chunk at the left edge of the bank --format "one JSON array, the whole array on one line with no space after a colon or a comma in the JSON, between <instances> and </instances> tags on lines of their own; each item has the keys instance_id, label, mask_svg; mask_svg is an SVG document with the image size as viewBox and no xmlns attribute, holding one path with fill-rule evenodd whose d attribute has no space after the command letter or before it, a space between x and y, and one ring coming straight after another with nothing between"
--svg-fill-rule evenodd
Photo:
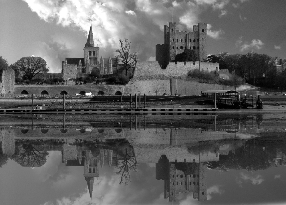
<instances>
[{"instance_id":1,"label":"upright ruined stone wall chunk at the left edge of the bank","mask_svg":"<svg viewBox=\"0 0 286 205\"><path fill-rule=\"evenodd\" d=\"M14 94L15 71L12 68L0 70L0 94Z\"/></svg>"}]
</instances>

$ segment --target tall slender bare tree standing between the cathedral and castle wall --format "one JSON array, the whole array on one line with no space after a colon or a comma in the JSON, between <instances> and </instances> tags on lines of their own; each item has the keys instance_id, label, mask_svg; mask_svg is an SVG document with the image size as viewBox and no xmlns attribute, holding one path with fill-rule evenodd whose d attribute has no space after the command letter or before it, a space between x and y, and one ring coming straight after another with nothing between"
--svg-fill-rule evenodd
<instances>
[{"instance_id":1,"label":"tall slender bare tree standing between the cathedral and castle wall","mask_svg":"<svg viewBox=\"0 0 286 205\"><path fill-rule=\"evenodd\" d=\"M132 69L132 74L134 73L136 63L138 61L137 52L130 52L131 42L128 39L124 40L119 38L119 49L116 49L115 52L119 54L115 57L117 58L118 64L122 64L125 68L125 76L128 75L128 70Z\"/></svg>"}]
</instances>

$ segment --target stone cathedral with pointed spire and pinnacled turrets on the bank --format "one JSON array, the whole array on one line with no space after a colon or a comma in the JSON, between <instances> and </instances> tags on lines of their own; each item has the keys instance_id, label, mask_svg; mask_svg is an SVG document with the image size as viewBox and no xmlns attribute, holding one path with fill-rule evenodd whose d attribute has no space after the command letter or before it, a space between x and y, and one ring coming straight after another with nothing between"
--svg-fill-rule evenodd
<instances>
[{"instance_id":1,"label":"stone cathedral with pointed spire and pinnacled turrets on the bank","mask_svg":"<svg viewBox=\"0 0 286 205\"><path fill-rule=\"evenodd\" d=\"M84 47L83 58L65 58L62 62L62 74L64 80L85 77L94 72L96 74L110 75L117 70L116 58L99 57L99 47L94 46L92 26L88 33L88 39Z\"/></svg>"}]
</instances>

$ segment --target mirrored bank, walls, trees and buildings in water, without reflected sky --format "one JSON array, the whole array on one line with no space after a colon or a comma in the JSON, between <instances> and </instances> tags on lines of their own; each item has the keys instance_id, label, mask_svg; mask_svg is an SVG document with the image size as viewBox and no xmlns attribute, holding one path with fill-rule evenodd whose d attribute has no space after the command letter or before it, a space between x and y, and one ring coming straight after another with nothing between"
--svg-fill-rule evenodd
<instances>
[{"instance_id":1,"label":"mirrored bank, walls, trees and buildings in water, without reflected sky","mask_svg":"<svg viewBox=\"0 0 286 205\"><path fill-rule=\"evenodd\" d=\"M0 167L8 159L41 167L61 151L67 167L83 167L92 199L94 180L115 168L132 182L139 164L156 163L164 199L192 192L207 200L207 169L254 172L285 165L283 115L1 115ZM9 173L7 173L9 174ZM78 176L81 177L81 176Z\"/></svg>"}]
</instances>

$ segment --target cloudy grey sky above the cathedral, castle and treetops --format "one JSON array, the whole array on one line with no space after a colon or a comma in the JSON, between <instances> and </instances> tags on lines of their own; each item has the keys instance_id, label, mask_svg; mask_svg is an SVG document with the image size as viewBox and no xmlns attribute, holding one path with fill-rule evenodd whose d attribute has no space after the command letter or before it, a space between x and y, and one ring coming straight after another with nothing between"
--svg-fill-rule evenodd
<instances>
[{"instance_id":1,"label":"cloudy grey sky above the cathedral, castle and treetops","mask_svg":"<svg viewBox=\"0 0 286 205\"><path fill-rule=\"evenodd\" d=\"M180 31L208 24L207 54L265 53L285 58L283 0L0 0L0 56L13 64L40 56L51 73L65 57L83 57L92 25L104 58L116 55L118 39L132 42L139 60L155 60L164 25Z\"/></svg>"}]
</instances>

